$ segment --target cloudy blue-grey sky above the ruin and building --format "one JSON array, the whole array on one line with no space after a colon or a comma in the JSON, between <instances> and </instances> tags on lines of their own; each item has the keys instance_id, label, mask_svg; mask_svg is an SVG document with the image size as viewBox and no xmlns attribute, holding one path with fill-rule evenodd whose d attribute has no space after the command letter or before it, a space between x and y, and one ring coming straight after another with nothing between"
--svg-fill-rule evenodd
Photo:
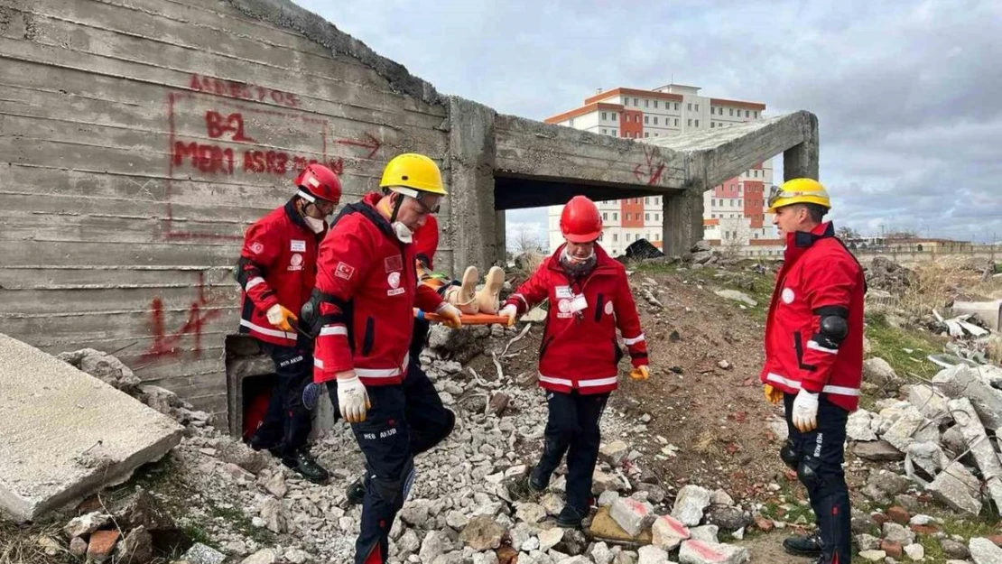
<instances>
[{"instance_id":1,"label":"cloudy blue-grey sky above the ruin and building","mask_svg":"<svg viewBox=\"0 0 1002 564\"><path fill-rule=\"evenodd\" d=\"M672 79L767 115L810 110L837 224L1002 240L998 0L297 1L502 113L543 119L599 87Z\"/></svg>"}]
</instances>

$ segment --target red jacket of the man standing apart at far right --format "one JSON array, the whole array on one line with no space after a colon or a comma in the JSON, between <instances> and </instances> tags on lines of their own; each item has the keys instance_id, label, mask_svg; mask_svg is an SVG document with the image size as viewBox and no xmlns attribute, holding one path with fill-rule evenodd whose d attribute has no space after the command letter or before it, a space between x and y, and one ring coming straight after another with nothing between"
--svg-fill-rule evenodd
<instances>
[{"instance_id":1,"label":"red jacket of the man standing apart at far right","mask_svg":"<svg viewBox=\"0 0 1002 564\"><path fill-rule=\"evenodd\" d=\"M860 402L863 378L863 267L835 236L831 222L787 234L783 268L766 320L766 384L796 394L824 392L848 411ZM828 312L826 312L828 309ZM819 335L821 314L848 312L838 348Z\"/></svg>"}]
</instances>

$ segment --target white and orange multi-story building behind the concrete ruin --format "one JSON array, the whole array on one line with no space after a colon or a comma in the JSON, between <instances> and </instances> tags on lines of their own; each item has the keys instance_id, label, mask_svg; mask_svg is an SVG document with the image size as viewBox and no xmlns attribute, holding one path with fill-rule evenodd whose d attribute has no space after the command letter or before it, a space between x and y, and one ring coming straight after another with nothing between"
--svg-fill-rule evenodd
<instances>
[{"instance_id":1,"label":"white and orange multi-story building behind the concrete ruin","mask_svg":"<svg viewBox=\"0 0 1002 564\"><path fill-rule=\"evenodd\" d=\"M631 139L649 139L692 131L727 127L762 119L766 104L699 95L699 88L668 84L653 90L614 88L599 90L581 107L545 121L593 133ZM783 243L766 213L773 185L772 160L760 163L703 196L703 238L710 244L744 255L780 252ZM664 221L661 196L634 197L598 203L602 213L602 246L621 254L633 241L646 238L661 246ZM549 209L549 243L556 248L562 206Z\"/></svg>"}]
</instances>

